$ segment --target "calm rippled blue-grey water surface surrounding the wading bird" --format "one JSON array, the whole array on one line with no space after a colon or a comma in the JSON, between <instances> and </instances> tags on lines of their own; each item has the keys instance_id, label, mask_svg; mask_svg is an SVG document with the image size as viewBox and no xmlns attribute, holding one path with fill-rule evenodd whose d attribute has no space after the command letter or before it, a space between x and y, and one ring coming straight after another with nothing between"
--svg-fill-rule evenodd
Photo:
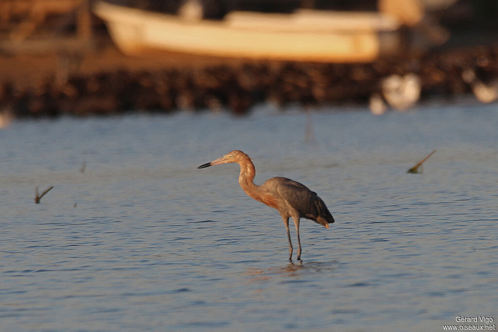
<instances>
[{"instance_id":1,"label":"calm rippled blue-grey water surface surrounding the wading bird","mask_svg":"<svg viewBox=\"0 0 498 332\"><path fill-rule=\"evenodd\" d=\"M497 106L311 119L308 142L305 114L264 108L1 129L0 330L496 324ZM327 203L330 229L301 222L302 264L287 261L278 213L239 187L238 165L196 168L233 149L252 157L257 184L286 176ZM433 149L423 174L405 173Z\"/></svg>"}]
</instances>

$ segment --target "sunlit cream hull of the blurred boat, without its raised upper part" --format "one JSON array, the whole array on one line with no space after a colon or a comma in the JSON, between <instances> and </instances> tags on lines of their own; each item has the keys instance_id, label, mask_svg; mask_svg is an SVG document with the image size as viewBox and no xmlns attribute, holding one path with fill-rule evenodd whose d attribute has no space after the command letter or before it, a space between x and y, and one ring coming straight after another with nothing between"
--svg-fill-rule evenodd
<instances>
[{"instance_id":1,"label":"sunlit cream hull of the blurred boat, without its raised upper part","mask_svg":"<svg viewBox=\"0 0 498 332\"><path fill-rule=\"evenodd\" d=\"M395 53L399 44L396 30L313 29L309 24L297 29L291 20L288 27L241 24L230 18L192 22L106 2L98 2L95 12L105 20L118 47L130 55L164 50L232 58L371 62Z\"/></svg>"}]
</instances>

